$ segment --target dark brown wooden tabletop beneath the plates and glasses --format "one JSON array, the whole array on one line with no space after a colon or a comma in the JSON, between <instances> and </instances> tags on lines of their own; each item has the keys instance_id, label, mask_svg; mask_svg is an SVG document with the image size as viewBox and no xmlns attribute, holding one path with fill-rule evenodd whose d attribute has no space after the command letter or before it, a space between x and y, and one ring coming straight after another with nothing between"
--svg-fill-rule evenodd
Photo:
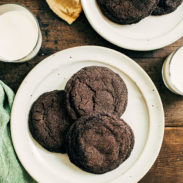
<instances>
[{"instance_id":1,"label":"dark brown wooden tabletop beneath the plates and glasses","mask_svg":"<svg viewBox=\"0 0 183 183\"><path fill-rule=\"evenodd\" d=\"M25 5L37 16L43 34L43 45L38 56L29 62L0 62L0 80L16 92L27 73L41 60L57 51L74 46L100 45L128 55L143 67L154 81L164 104L166 119L164 142L159 157L140 183L183 183L183 97L171 93L164 86L161 77L164 59L183 45L183 38L156 51L129 51L101 38L92 29L83 13L73 25L68 25L52 13L45 0L0 1L0 4L4 3Z\"/></svg>"}]
</instances>

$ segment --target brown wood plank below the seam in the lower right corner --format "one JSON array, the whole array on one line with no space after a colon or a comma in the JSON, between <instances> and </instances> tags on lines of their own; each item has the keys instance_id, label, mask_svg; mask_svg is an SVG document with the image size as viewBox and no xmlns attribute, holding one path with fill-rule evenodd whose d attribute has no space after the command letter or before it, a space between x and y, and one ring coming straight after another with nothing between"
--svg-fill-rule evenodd
<instances>
[{"instance_id":1,"label":"brown wood plank below the seam in the lower right corner","mask_svg":"<svg viewBox=\"0 0 183 183\"><path fill-rule=\"evenodd\" d=\"M183 183L183 128L165 130L161 152L139 183Z\"/></svg>"}]
</instances>

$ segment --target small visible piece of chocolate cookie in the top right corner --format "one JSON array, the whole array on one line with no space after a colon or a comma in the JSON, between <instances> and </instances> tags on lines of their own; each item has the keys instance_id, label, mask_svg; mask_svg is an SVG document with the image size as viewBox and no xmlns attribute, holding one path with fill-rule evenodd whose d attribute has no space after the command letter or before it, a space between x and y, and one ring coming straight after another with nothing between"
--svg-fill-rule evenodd
<instances>
[{"instance_id":1,"label":"small visible piece of chocolate cookie in the top right corner","mask_svg":"<svg viewBox=\"0 0 183 183\"><path fill-rule=\"evenodd\" d=\"M175 11L183 0L160 0L152 15L164 15Z\"/></svg>"}]
</instances>

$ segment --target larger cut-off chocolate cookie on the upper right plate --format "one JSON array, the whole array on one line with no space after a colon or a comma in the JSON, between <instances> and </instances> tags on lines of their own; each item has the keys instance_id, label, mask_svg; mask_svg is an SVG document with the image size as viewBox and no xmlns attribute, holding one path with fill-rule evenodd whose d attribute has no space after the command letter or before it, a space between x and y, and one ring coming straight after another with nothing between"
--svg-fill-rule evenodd
<instances>
[{"instance_id":1,"label":"larger cut-off chocolate cookie on the upper right plate","mask_svg":"<svg viewBox=\"0 0 183 183\"><path fill-rule=\"evenodd\" d=\"M159 0L97 0L103 14L119 24L139 22L152 13L158 2Z\"/></svg>"}]
</instances>

